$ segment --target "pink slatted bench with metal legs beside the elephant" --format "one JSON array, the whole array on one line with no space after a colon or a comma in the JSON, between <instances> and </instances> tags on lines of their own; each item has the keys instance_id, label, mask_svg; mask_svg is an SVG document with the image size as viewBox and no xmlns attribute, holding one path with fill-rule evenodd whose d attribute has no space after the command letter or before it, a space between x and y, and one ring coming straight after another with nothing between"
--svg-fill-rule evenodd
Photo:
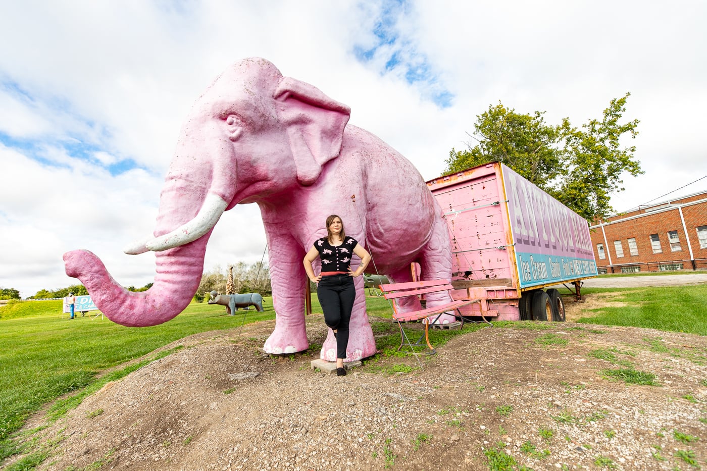
<instances>
[{"instance_id":1,"label":"pink slatted bench with metal legs beside the elephant","mask_svg":"<svg viewBox=\"0 0 707 471\"><path fill-rule=\"evenodd\" d=\"M449 280L445 279L436 279L436 280L431 280L431 281L410 281L408 283L390 283L390 284L381 284L378 285L380 288L380 291L382 291L383 296L387 300L392 300L393 303L393 319L397 320L398 326L400 327L400 347L398 347L398 351L402 349L402 346L404 345L404 340L405 340L405 332L402 330L402 322L411 322L414 320L422 320L425 324L425 334L423 337L425 337L425 340L427 342L427 346L430 347L432 353L436 353L435 349L433 349L432 345L430 344L430 337L429 337L429 327L430 324L435 322L440 318L441 315L444 313L450 312L457 310L459 313L459 317L462 319L462 325L461 327L464 327L464 318L462 317L462 312L459 310L462 306L467 306L467 304L471 303L477 303L479 300L478 299L472 299L472 300L459 300L459 301L452 301L451 303L444 304L442 306L434 306L432 308L424 308L421 310L414 310L409 313L400 313L398 312L398 306L395 300L397 298L404 298L407 296L420 296L422 294L428 294L428 293L440 293L442 291L451 291L454 289L454 286L452 286L451 282ZM437 316L433 320L430 320L431 317ZM460 327L460 328L461 328ZM421 340L422 337L420 337L417 342L414 345L421 345Z\"/></svg>"}]
</instances>

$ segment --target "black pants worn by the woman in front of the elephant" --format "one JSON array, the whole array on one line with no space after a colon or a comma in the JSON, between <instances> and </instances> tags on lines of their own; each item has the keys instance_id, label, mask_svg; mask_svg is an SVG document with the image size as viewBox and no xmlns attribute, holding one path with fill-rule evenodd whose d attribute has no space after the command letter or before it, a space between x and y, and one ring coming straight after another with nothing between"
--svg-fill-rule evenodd
<instances>
[{"instance_id":1,"label":"black pants worn by the woman in front of the elephant","mask_svg":"<svg viewBox=\"0 0 707 471\"><path fill-rule=\"evenodd\" d=\"M337 358L346 358L346 346L349 344L349 320L354 309L356 286L354 278L348 274L322 277L317 284L317 298L324 311L324 322L337 337Z\"/></svg>"}]
</instances>

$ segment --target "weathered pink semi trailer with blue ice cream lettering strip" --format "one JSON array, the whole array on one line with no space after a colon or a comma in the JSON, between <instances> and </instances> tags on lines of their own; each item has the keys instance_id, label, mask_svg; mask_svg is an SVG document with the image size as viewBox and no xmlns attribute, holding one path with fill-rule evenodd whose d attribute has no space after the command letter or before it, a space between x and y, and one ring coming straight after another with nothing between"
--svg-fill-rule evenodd
<instances>
[{"instance_id":1,"label":"weathered pink semi trailer with blue ice cream lettering strip","mask_svg":"<svg viewBox=\"0 0 707 471\"><path fill-rule=\"evenodd\" d=\"M452 298L464 317L564 321L556 286L596 277L589 224L502 163L427 182L452 241ZM549 288L550 287L550 288Z\"/></svg>"}]
</instances>

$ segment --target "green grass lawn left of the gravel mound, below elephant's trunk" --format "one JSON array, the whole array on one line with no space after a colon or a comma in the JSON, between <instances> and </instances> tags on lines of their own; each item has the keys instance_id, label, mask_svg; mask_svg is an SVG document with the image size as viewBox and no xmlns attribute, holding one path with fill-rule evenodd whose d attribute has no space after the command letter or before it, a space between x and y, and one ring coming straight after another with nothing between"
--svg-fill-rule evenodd
<instances>
[{"instance_id":1,"label":"green grass lawn left of the gravel mound, below elephant's trunk","mask_svg":"<svg viewBox=\"0 0 707 471\"><path fill-rule=\"evenodd\" d=\"M61 303L28 301L0 309L1 314L13 308L13 318L0 320L0 459L7 455L1 442L47 402L85 388L107 368L187 335L238 327L245 312L229 316L223 306L192 303L162 325L132 328L88 315L68 320ZM274 318L271 298L265 303L264 313L252 310L245 322Z\"/></svg>"}]
</instances>

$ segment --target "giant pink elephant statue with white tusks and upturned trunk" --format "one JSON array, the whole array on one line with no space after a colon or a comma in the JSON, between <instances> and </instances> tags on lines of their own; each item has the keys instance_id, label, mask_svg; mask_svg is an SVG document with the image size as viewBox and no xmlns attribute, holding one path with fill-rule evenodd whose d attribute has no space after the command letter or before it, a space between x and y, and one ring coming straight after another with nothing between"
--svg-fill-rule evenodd
<instances>
[{"instance_id":1,"label":"giant pink elephant statue with white tusks and upturned trunk","mask_svg":"<svg viewBox=\"0 0 707 471\"><path fill-rule=\"evenodd\" d=\"M274 332L264 345L271 354L309 347L302 260L317 238L327 236L329 214L341 216L346 234L395 282L411 281L411 262L419 262L422 279L450 279L448 228L420 173L378 137L347 125L349 115L349 107L282 76L265 59L233 64L189 112L160 194L154 233L125 249L158 252L153 286L143 292L123 289L88 250L64 254L66 274L81 280L110 320L158 325L181 313L197 291L206 243L223 211L257 203L269 243L276 312ZM376 351L363 277L355 283L346 361ZM450 301L427 299L428 306ZM416 301L404 306L419 308ZM449 320L452 316L442 319ZM321 357L336 359L331 330Z\"/></svg>"}]
</instances>

